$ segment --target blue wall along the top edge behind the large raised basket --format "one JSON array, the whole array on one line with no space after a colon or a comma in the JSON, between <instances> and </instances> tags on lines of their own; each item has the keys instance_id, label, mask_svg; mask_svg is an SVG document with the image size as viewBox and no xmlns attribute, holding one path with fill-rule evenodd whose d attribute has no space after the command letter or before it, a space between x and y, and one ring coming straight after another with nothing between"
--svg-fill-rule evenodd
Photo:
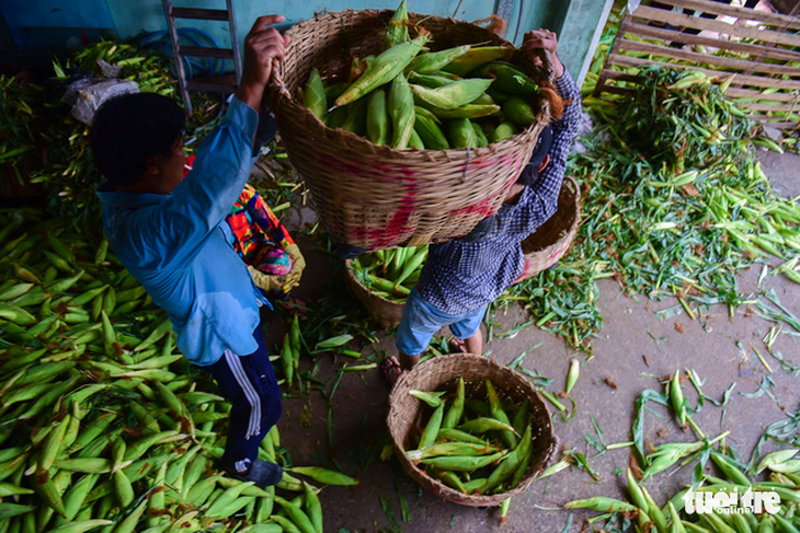
<instances>
[{"instance_id":1,"label":"blue wall along the top edge behind the large raised basket","mask_svg":"<svg viewBox=\"0 0 800 533\"><path fill-rule=\"evenodd\" d=\"M287 18L286 25L289 25L310 19L315 12L325 9L396 9L399 3L399 0L346 0L333 3L319 0L275 0L268 3L235 0L233 11L241 44L255 19L262 14L284 14ZM518 45L528 30L549 27L556 31L562 60L573 76L582 79L587 56L596 46L595 34L598 26L605 23L613 0L408 0L408 9L418 13L475 21L488 18L501 4L508 3L505 37ZM173 4L219 9L225 7L225 0L175 0ZM167 27L160 0L2 0L0 14L20 48L73 48L76 39L85 40L102 31L129 37L142 32L164 31ZM222 47L230 46L226 23L182 21L181 24L213 35Z\"/></svg>"}]
</instances>

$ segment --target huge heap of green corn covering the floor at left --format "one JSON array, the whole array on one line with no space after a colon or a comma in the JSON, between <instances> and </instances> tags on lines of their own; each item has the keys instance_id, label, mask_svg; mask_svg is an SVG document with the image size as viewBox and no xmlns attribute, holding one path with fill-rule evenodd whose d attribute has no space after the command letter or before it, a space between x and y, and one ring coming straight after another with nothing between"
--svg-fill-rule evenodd
<instances>
[{"instance_id":1,"label":"huge heap of green corn covering the floor at left","mask_svg":"<svg viewBox=\"0 0 800 533\"><path fill-rule=\"evenodd\" d=\"M0 212L0 532L322 531L295 475L356 480L290 467L277 428L260 450L277 487L219 473L229 404L107 241L64 225Z\"/></svg>"}]
</instances>

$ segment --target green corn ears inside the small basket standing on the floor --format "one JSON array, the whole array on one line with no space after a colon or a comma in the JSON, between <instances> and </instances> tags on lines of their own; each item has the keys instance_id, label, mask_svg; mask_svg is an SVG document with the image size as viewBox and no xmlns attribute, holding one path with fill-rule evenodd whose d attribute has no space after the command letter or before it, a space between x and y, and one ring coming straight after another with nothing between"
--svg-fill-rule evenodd
<instances>
[{"instance_id":1,"label":"green corn ears inside the small basket standing on the floor","mask_svg":"<svg viewBox=\"0 0 800 533\"><path fill-rule=\"evenodd\" d=\"M467 397L472 383L458 379L455 394L411 391L433 407L408 459L445 485L469 495L507 491L523 480L533 455L530 404L501 402L490 380L487 397Z\"/></svg>"}]
</instances>

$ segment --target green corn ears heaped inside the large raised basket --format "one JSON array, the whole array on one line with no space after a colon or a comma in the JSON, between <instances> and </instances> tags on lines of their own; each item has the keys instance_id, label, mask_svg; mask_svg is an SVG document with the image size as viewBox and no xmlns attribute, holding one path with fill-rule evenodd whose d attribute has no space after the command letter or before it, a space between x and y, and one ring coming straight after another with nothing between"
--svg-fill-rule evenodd
<instances>
[{"instance_id":1,"label":"green corn ears heaped inside the large raised basket","mask_svg":"<svg viewBox=\"0 0 800 533\"><path fill-rule=\"evenodd\" d=\"M541 90L507 62L507 46L456 46L425 51L430 33L411 38L402 1L384 51L354 60L348 79L322 80L313 68L302 102L330 128L396 149L480 148L536 120ZM548 94L548 97L552 95Z\"/></svg>"}]
</instances>

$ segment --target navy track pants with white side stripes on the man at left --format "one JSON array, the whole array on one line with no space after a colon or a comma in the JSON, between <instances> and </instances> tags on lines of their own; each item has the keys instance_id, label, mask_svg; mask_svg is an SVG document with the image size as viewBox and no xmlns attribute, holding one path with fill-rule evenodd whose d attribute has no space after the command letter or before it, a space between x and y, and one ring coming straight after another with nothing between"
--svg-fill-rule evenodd
<instances>
[{"instance_id":1,"label":"navy track pants with white side stripes on the man at left","mask_svg":"<svg viewBox=\"0 0 800 533\"><path fill-rule=\"evenodd\" d=\"M247 461L259 456L259 444L281 418L281 390L264 343L261 323L253 332L259 349L249 356L226 350L206 367L217 381L219 392L231 403L228 443L224 463L243 470Z\"/></svg>"}]
</instances>

